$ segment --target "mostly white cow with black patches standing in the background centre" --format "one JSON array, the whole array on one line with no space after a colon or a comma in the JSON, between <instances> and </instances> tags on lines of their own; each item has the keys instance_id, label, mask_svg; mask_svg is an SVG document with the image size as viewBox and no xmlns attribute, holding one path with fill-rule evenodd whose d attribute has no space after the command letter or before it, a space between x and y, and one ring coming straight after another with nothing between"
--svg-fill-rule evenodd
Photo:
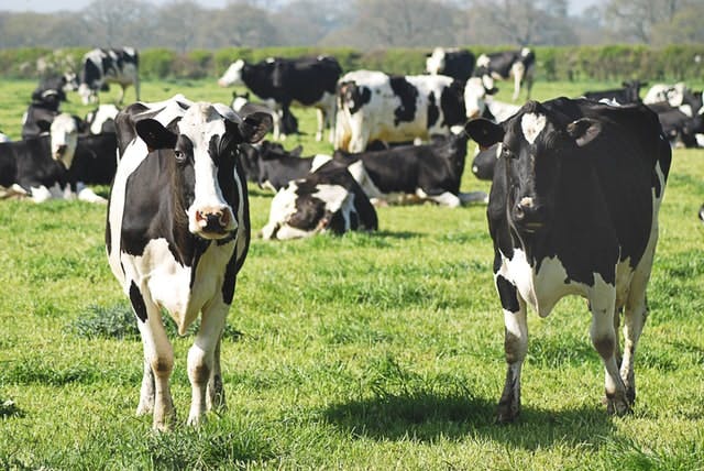
<instances>
[{"instance_id":1,"label":"mostly white cow with black patches standing in the background centre","mask_svg":"<svg viewBox=\"0 0 704 471\"><path fill-rule=\"evenodd\" d=\"M340 78L334 149L363 152L374 141L447 135L465 121L463 84L442 75L354 70Z\"/></svg>"}]
</instances>

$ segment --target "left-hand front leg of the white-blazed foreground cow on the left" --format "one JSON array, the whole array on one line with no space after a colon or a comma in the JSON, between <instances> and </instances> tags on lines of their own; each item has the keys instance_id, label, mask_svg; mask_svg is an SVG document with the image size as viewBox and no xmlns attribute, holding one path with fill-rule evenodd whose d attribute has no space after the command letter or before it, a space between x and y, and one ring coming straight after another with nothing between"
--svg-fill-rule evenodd
<instances>
[{"instance_id":1,"label":"left-hand front leg of the white-blazed foreground cow on the left","mask_svg":"<svg viewBox=\"0 0 704 471\"><path fill-rule=\"evenodd\" d=\"M174 349L166 337L158 306L145 298L138 289L130 289L130 300L139 318L136 324L142 335L144 361L151 368L154 380L153 427L157 430L168 430L176 418L168 387L168 380L174 370ZM146 318L142 320L144 316ZM150 385L145 383L151 380L146 376L145 372L138 413L148 410L150 406Z\"/></svg>"}]
</instances>

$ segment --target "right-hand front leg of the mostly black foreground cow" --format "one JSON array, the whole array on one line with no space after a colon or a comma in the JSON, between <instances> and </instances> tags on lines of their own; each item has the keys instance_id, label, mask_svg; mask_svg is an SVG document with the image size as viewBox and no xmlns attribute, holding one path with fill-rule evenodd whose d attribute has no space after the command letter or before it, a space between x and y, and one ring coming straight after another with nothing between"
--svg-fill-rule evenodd
<instances>
[{"instance_id":1,"label":"right-hand front leg of the mostly black foreground cow","mask_svg":"<svg viewBox=\"0 0 704 471\"><path fill-rule=\"evenodd\" d=\"M626 388L616 363L616 331L614 330L616 288L604 282L597 282L588 300L592 310L590 337L604 363L607 410L609 414L624 415L630 410L630 406L626 399Z\"/></svg>"}]
</instances>

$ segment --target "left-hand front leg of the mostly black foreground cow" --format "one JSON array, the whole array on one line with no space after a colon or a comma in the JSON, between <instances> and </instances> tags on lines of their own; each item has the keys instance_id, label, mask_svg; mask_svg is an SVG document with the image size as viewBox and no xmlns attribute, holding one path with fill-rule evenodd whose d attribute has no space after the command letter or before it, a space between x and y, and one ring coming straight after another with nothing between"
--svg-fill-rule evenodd
<instances>
[{"instance_id":1,"label":"left-hand front leg of the mostly black foreground cow","mask_svg":"<svg viewBox=\"0 0 704 471\"><path fill-rule=\"evenodd\" d=\"M520 414L520 371L528 351L528 321L526 302L516 285L501 274L494 276L494 283L504 310L504 352L508 365L497 418L507 424Z\"/></svg>"}]
</instances>

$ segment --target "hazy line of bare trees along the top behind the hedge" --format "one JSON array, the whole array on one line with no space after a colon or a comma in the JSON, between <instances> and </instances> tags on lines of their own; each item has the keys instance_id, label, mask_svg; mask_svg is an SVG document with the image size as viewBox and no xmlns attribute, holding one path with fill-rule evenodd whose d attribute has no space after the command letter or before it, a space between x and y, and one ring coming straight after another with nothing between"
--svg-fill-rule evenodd
<instances>
[{"instance_id":1,"label":"hazy line of bare trees along the top behind the hedge","mask_svg":"<svg viewBox=\"0 0 704 471\"><path fill-rule=\"evenodd\" d=\"M95 0L80 12L0 11L0 48L702 44L701 0Z\"/></svg>"}]
</instances>

